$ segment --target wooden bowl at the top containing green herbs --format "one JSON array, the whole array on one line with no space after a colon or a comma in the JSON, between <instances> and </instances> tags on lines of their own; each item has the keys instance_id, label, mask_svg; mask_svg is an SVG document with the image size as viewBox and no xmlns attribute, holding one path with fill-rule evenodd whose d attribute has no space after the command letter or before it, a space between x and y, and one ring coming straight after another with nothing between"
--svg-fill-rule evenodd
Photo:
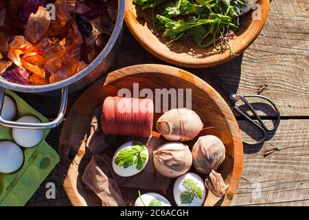
<instances>
[{"instance_id":1,"label":"wooden bowl at the top containing green herbs","mask_svg":"<svg viewBox=\"0 0 309 220\"><path fill-rule=\"evenodd\" d=\"M258 0L258 3L261 5L260 19L252 19L252 10L245 14L235 39L231 41L231 46L236 54L244 52L258 37L264 26L268 15L269 0ZM213 46L198 47L193 39L176 41L171 45L166 45L168 39L163 36L163 32L153 28L151 12L141 10L141 7L134 5L132 0L126 0L124 19L139 44L152 55L167 63L182 67L203 68L225 63L235 57L229 50L220 54L214 52Z\"/></svg>"}]
</instances>

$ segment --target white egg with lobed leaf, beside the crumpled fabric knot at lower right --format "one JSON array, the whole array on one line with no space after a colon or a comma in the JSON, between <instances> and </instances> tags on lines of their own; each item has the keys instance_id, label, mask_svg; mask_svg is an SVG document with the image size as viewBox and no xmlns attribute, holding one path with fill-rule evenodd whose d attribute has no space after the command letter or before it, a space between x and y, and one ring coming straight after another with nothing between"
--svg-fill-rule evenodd
<instances>
[{"instance_id":1,"label":"white egg with lobed leaf, beside the crumpled fabric knot at lower right","mask_svg":"<svg viewBox=\"0 0 309 220\"><path fill-rule=\"evenodd\" d=\"M189 185L186 184L187 182L189 182ZM185 197L185 192L189 192L187 195L190 195L190 192L194 192L194 190L191 190L190 185L195 188L196 192L201 192L198 193L201 197L193 196L192 199L188 199L190 197ZM184 175L178 177L175 181L173 192L177 206L201 206L205 200L204 181L195 173L185 173ZM181 197L183 197L183 199L181 199Z\"/></svg>"}]
</instances>

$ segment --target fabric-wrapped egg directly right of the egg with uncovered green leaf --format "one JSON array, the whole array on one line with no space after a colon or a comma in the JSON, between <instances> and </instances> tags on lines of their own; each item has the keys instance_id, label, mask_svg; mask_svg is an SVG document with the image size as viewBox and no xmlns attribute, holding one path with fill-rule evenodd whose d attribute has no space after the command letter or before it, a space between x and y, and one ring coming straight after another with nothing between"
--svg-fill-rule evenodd
<instances>
[{"instance_id":1,"label":"fabric-wrapped egg directly right of the egg with uncovered green leaf","mask_svg":"<svg viewBox=\"0 0 309 220\"><path fill-rule=\"evenodd\" d=\"M155 168L165 177L179 177L192 166L189 147L180 142L163 144L153 152Z\"/></svg>"}]
</instances>

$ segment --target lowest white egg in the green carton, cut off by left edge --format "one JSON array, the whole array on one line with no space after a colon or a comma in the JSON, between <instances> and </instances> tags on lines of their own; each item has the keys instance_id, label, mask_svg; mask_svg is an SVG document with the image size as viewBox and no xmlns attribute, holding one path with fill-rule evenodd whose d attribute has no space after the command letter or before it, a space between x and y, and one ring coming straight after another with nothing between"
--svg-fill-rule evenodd
<instances>
[{"instance_id":1,"label":"lowest white egg in the green carton, cut off by left edge","mask_svg":"<svg viewBox=\"0 0 309 220\"><path fill-rule=\"evenodd\" d=\"M23 151L13 142L0 142L0 173L14 173L23 165Z\"/></svg>"}]
</instances>

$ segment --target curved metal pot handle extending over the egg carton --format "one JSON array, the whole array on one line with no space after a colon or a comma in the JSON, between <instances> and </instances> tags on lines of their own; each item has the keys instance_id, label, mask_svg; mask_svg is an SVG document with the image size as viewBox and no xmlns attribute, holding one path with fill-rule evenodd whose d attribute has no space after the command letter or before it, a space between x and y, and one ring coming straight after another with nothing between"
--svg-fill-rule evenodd
<instances>
[{"instance_id":1,"label":"curved metal pot handle extending over the egg carton","mask_svg":"<svg viewBox=\"0 0 309 220\"><path fill-rule=\"evenodd\" d=\"M0 124L3 126L8 126L11 128L16 129L54 129L58 126L63 118L65 118L65 111L67 110L67 98L68 98L68 87L63 87L61 89L61 103L60 103L60 110L58 113L57 118L48 123L21 123L21 122L12 122L8 120L4 120L0 114ZM0 113L2 112L3 102L4 102L4 94L5 89L0 87Z\"/></svg>"}]
</instances>

